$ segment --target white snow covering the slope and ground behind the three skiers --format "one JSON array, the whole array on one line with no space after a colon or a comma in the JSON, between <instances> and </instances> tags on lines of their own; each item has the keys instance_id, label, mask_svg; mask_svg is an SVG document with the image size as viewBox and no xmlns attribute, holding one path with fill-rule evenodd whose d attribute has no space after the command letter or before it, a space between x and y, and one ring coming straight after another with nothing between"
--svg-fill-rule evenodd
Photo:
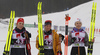
<instances>
[{"instance_id":1,"label":"white snow covering the slope and ground behind the three skiers","mask_svg":"<svg viewBox=\"0 0 100 55\"><path fill-rule=\"evenodd\" d=\"M97 15L96 15L96 23L95 23L95 28L100 29L100 22L99 22L99 18L100 18L100 0L94 0L94 2L97 2ZM64 26L65 25L65 14L69 14L69 16L71 17L71 20L69 21L69 27L74 27L74 22L76 20L76 18L80 18L83 26L86 28L90 27L90 19L91 19L91 10L92 10L92 4L93 1L81 4L79 6L76 6L68 11L62 11L62 12L56 12L56 13L49 13L49 14L43 14L42 18L43 18L43 24L45 20L52 20L52 25L57 25L57 26ZM15 19L15 23L17 22L17 19L19 17L16 17ZM34 16L26 16L26 17L22 17L25 19L25 23L26 24L34 24L34 22L38 23L38 18L37 15ZM9 20L4 19L4 20ZM38 35L37 30L38 28L26 28L31 34L32 34L32 38L31 38L31 52L32 55L37 55L38 50L35 47L35 41L36 41L36 36ZM2 55L3 50L4 50L4 45L6 43L6 38L7 38L7 30L8 30L8 25L5 25L3 23L0 23L0 55ZM62 33L65 34L62 31L59 31L58 33ZM99 37L100 33L95 33L95 42L94 42L94 50L93 50L93 55L99 55L99 51L100 51L100 37ZM87 47L86 47L87 49ZM68 47L68 55L70 55L70 50L71 50L71 46ZM64 44L62 43L62 51L63 51L63 55L64 55Z\"/></svg>"}]
</instances>

